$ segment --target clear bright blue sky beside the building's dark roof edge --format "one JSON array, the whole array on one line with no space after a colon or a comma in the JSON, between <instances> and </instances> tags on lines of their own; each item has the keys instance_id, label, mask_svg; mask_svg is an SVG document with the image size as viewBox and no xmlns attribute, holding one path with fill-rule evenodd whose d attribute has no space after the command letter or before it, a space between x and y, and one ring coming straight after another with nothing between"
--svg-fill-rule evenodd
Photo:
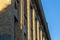
<instances>
[{"instance_id":1,"label":"clear bright blue sky beside the building's dark roof edge","mask_svg":"<svg viewBox=\"0 0 60 40\"><path fill-rule=\"evenodd\" d=\"M60 0L42 0L52 40L60 40Z\"/></svg>"}]
</instances>

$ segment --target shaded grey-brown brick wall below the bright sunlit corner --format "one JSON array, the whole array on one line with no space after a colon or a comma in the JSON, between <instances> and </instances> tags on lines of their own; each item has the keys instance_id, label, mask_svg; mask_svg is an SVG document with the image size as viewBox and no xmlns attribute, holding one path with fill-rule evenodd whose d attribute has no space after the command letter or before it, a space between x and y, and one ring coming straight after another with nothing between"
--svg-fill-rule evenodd
<instances>
[{"instance_id":1,"label":"shaded grey-brown brick wall below the bright sunlit corner","mask_svg":"<svg viewBox=\"0 0 60 40\"><path fill-rule=\"evenodd\" d=\"M0 35L11 34L13 10L8 6L5 10L0 11Z\"/></svg>"}]
</instances>

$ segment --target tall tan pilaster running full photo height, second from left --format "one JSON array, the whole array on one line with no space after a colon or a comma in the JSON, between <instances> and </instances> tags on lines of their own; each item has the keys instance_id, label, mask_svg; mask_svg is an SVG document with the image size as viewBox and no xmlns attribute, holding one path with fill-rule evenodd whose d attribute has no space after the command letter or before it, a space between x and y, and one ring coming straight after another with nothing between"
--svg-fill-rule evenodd
<instances>
[{"instance_id":1,"label":"tall tan pilaster running full photo height, second from left","mask_svg":"<svg viewBox=\"0 0 60 40\"><path fill-rule=\"evenodd\" d=\"M31 33L30 33L30 0L27 0L27 29L28 29L28 40L31 40Z\"/></svg>"}]
</instances>

